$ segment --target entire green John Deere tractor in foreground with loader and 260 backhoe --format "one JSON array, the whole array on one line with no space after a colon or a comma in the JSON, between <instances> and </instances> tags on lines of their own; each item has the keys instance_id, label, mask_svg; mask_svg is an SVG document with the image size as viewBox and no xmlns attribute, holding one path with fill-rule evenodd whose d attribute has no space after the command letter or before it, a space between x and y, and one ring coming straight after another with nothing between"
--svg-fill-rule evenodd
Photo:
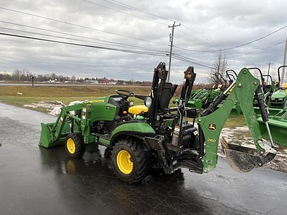
<instances>
[{"instance_id":1,"label":"entire green John Deere tractor in foreground with loader and 260 backhoe","mask_svg":"<svg viewBox=\"0 0 287 215\"><path fill-rule=\"evenodd\" d=\"M184 72L180 103L173 101L172 108L169 104L177 85L166 82L167 74L164 63L154 69L150 96L117 90L118 95L63 107L56 122L41 124L39 145L64 144L71 157L82 156L87 144L104 145L115 174L129 183L142 181L151 169L160 168L165 174L180 168L207 173L216 167L221 130L239 101L256 149L227 143L223 138L221 145L229 164L239 172L249 172L276 156L271 134L269 144L260 133L253 109L254 94L266 121L267 110L262 86L248 69L242 69L236 82L200 115L196 108L186 108L196 76L193 67ZM130 107L131 97L143 100L145 107ZM224 99L223 106L216 109ZM197 118L198 125L189 122L190 118Z\"/></svg>"}]
</instances>

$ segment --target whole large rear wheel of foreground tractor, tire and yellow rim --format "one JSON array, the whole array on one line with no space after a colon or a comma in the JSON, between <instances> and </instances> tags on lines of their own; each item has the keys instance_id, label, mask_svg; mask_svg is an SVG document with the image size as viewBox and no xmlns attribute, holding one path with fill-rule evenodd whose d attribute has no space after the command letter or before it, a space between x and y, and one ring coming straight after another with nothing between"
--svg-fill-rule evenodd
<instances>
[{"instance_id":1,"label":"whole large rear wheel of foreground tractor, tire and yellow rim","mask_svg":"<svg viewBox=\"0 0 287 215\"><path fill-rule=\"evenodd\" d=\"M143 142L132 138L116 142L111 160L116 175L131 184L141 182L151 167L149 150Z\"/></svg>"}]
</instances>

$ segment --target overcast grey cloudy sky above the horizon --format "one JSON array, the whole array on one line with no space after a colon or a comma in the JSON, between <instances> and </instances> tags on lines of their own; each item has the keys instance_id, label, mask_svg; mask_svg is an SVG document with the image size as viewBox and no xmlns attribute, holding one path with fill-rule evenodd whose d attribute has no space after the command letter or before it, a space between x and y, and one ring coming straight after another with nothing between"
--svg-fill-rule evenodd
<instances>
[{"instance_id":1,"label":"overcast grey cloudy sky above the horizon","mask_svg":"<svg viewBox=\"0 0 287 215\"><path fill-rule=\"evenodd\" d=\"M175 20L176 24L180 22L181 26L176 27L174 31L174 56L184 56L185 59L188 58L207 67L172 59L171 81L182 82L183 71L188 66L194 66L197 82L200 82L206 78L210 70L208 67L212 66L218 52L190 50L213 51L238 46L287 25L286 0L89 1L98 5L83 0L0 0L0 7L50 18L45 19L0 8L0 32L92 46L160 53L162 56L0 35L0 71L12 72L14 69L24 68L35 74L54 72L77 77L151 80L153 68L159 62L162 61L168 65L168 56L165 55L169 52L171 28L168 28L168 25L172 25L171 20ZM117 5L120 4L119 2L160 17L127 8L128 6L123 4ZM58 36L58 38L39 33ZM271 61L273 63L271 72L277 71L278 66L283 63L286 36L287 28L284 28L257 42L223 51L228 59L228 68L239 71L243 67L259 65L263 72L267 72L267 63ZM264 48L267 49L261 50ZM253 53L247 54L250 52Z\"/></svg>"}]
</instances>

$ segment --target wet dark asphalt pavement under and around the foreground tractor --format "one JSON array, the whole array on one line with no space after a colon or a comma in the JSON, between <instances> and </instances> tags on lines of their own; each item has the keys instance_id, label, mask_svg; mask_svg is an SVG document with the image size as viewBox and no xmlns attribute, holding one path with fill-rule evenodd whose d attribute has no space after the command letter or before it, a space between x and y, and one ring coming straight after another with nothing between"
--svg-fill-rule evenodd
<instances>
[{"instance_id":1,"label":"wet dark asphalt pavement under and around the foreground tractor","mask_svg":"<svg viewBox=\"0 0 287 215\"><path fill-rule=\"evenodd\" d=\"M113 173L105 147L69 158L38 146L54 116L0 103L0 215L286 215L287 175L242 174L223 158L208 174L154 172L130 185Z\"/></svg>"}]
</instances>

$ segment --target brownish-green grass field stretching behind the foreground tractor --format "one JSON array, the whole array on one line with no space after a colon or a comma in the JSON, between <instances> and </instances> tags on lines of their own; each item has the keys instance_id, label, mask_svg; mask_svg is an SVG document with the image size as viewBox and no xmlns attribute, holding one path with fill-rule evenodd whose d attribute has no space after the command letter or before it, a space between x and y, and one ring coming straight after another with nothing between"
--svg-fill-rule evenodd
<instances>
[{"instance_id":1,"label":"brownish-green grass field stretching behind the foreground tractor","mask_svg":"<svg viewBox=\"0 0 287 215\"><path fill-rule=\"evenodd\" d=\"M30 86L3 86L0 87L0 101L23 107L26 104L40 101L60 101L68 105L73 101L85 101L96 97L115 95L116 89L132 91L136 94L149 95L150 88L144 87L30 87ZM143 105L143 101L133 98L135 105ZM48 112L47 108L29 108L41 112ZM231 115L225 127L237 127L246 125L243 115Z\"/></svg>"}]
</instances>

